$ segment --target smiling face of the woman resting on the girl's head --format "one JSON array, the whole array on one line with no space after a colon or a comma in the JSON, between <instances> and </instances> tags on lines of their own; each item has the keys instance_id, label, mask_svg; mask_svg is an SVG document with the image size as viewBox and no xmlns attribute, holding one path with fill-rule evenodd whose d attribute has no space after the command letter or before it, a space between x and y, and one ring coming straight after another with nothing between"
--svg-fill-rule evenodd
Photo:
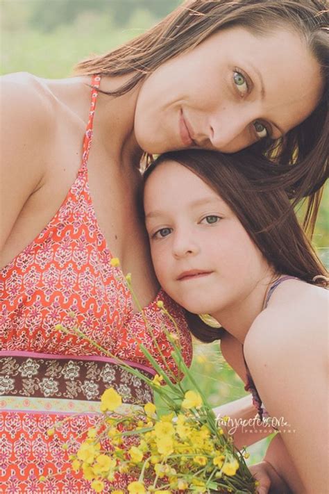
<instances>
[{"instance_id":1,"label":"smiling face of the woman resting on the girl's head","mask_svg":"<svg viewBox=\"0 0 329 494\"><path fill-rule=\"evenodd\" d=\"M151 154L187 147L232 153L303 122L322 88L319 64L295 33L224 29L144 81L135 136Z\"/></svg>"}]
</instances>

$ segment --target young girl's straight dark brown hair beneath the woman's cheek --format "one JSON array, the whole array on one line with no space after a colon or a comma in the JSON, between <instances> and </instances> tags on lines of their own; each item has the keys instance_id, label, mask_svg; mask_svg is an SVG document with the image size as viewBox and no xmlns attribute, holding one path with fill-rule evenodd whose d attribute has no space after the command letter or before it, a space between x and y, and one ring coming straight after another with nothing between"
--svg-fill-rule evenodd
<instances>
[{"instance_id":1,"label":"young girl's straight dark brown hair beneath the woman's cheek","mask_svg":"<svg viewBox=\"0 0 329 494\"><path fill-rule=\"evenodd\" d=\"M236 154L191 149L162 154L144 173L144 181L161 163L180 163L200 177L237 215L273 270L307 283L321 283L326 270L301 228L284 188L267 190L267 159L251 150ZM271 167L270 167L271 170ZM321 276L319 276L321 275ZM318 277L314 281L314 277ZM187 313L192 333L202 341L220 338L213 329Z\"/></svg>"}]
</instances>

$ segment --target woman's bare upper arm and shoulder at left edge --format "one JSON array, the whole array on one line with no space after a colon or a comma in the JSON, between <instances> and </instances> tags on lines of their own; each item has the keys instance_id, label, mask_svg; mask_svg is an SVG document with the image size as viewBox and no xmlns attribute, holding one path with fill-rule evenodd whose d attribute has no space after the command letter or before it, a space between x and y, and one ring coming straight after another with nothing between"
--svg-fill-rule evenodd
<instances>
[{"instance_id":1,"label":"woman's bare upper arm and shoulder at left edge","mask_svg":"<svg viewBox=\"0 0 329 494\"><path fill-rule=\"evenodd\" d=\"M1 78L0 252L44 174L49 105L28 74ZM49 135L50 137L50 135ZM2 265L2 259L0 265Z\"/></svg>"}]
</instances>

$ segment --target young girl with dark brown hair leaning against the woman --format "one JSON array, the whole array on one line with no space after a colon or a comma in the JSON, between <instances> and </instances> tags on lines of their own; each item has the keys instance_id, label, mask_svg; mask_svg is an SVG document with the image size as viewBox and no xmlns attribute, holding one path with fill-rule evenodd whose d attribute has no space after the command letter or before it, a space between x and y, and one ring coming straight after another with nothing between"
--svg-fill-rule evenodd
<instances>
[{"instance_id":1,"label":"young girl with dark brown hair leaning against the woman","mask_svg":"<svg viewBox=\"0 0 329 494\"><path fill-rule=\"evenodd\" d=\"M146 170L146 228L162 288L221 324L196 336L221 339L260 418L289 424L267 459L294 492L324 493L328 297L316 285L326 272L266 174L246 151L164 154Z\"/></svg>"}]
</instances>

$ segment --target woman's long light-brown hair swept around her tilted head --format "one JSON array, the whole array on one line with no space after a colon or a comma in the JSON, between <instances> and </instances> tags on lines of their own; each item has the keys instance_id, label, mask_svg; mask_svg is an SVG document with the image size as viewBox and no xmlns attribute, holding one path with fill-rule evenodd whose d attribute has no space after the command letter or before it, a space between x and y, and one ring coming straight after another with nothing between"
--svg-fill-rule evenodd
<instances>
[{"instance_id":1,"label":"woman's long light-brown hair swept around her tilted head","mask_svg":"<svg viewBox=\"0 0 329 494\"><path fill-rule=\"evenodd\" d=\"M323 97L312 115L283 138L264 139L253 147L275 164L276 174L269 177L269 188L284 183L296 201L308 196L304 227L312 233L321 187L328 176L328 17L326 0L187 0L162 22L122 47L79 63L76 74L131 74L128 82L108 93L119 96L162 63L196 47L219 29L243 26L264 35L287 26L298 33L321 67Z\"/></svg>"}]
</instances>

